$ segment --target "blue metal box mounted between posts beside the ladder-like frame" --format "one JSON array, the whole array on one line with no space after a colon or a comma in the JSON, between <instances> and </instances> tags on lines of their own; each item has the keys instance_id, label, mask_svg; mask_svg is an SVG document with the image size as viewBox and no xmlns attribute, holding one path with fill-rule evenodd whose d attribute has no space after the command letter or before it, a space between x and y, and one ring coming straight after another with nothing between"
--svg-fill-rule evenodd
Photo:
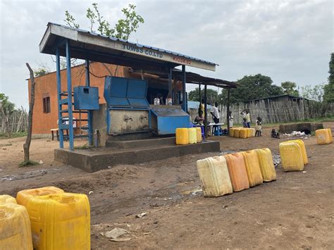
<instances>
[{"instance_id":1,"label":"blue metal box mounted between posts beside the ladder-like frame","mask_svg":"<svg viewBox=\"0 0 334 250\"><path fill-rule=\"evenodd\" d=\"M99 88L77 86L73 88L74 108L76 110L99 110Z\"/></svg>"}]
</instances>

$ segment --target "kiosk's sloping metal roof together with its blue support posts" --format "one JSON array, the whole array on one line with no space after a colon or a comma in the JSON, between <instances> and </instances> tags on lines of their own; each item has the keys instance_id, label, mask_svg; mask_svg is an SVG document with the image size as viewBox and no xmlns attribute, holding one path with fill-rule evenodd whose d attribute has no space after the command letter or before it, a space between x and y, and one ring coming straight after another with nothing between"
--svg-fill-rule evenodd
<instances>
[{"instance_id":1,"label":"kiosk's sloping metal roof together with its blue support posts","mask_svg":"<svg viewBox=\"0 0 334 250\"><path fill-rule=\"evenodd\" d=\"M202 68L205 70L216 70L216 63L205 61L192 56L186 56L173 51L159 49L152 46L136 44L115 37L107 37L99 35L87 30L75 29L72 27L58 25L56 23L48 23L47 30L39 44L39 51L44 54L56 56L57 68L57 91L58 91L58 120L60 147L63 148L63 130L69 130L70 149L74 149L73 145L73 121L72 110L72 84L70 58L78 58L86 61L86 86L89 87L89 61L97 61L101 63L113 63L116 65L124 65L140 70L155 70L168 73L169 93L171 94L171 75L172 69L182 65L180 73L183 79L183 100L185 100L185 82L186 73L185 65ZM67 91L61 92L61 74L60 74L60 56L66 56L67 65ZM206 84L204 83L206 86ZM66 96L66 98L63 98ZM67 106L67 108L63 108ZM183 109L186 103L183 101ZM68 113L68 116L63 116ZM68 119L68 124L61 121ZM87 111L88 137L89 144L92 144L92 112Z\"/></svg>"}]
</instances>

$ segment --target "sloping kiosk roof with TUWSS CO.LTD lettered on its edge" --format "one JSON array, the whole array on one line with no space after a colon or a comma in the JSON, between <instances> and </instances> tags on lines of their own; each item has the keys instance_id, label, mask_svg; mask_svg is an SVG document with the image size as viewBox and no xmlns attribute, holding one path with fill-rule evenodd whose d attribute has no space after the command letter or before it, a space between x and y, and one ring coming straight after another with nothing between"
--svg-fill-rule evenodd
<instances>
[{"instance_id":1,"label":"sloping kiosk roof with TUWSS CO.LTD lettered on its edge","mask_svg":"<svg viewBox=\"0 0 334 250\"><path fill-rule=\"evenodd\" d=\"M55 23L48 23L47 30L39 44L39 51L55 55L58 46L60 55L66 56L64 45L66 39L70 40L71 58L113 63L137 69L160 70L166 67L175 68L178 65L187 65L215 71L217 65L173 51L135 44Z\"/></svg>"}]
</instances>

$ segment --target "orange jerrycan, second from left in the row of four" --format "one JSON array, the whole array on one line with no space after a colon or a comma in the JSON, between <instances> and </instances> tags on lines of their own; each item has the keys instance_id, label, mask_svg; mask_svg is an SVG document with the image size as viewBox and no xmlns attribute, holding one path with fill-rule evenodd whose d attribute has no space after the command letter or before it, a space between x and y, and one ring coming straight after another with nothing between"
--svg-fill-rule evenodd
<instances>
[{"instance_id":1,"label":"orange jerrycan, second from left in the row of four","mask_svg":"<svg viewBox=\"0 0 334 250\"><path fill-rule=\"evenodd\" d=\"M245 161L242 154L226 154L224 157L228 165L228 173L230 174L233 192L248 189L249 180L247 177Z\"/></svg>"}]
</instances>

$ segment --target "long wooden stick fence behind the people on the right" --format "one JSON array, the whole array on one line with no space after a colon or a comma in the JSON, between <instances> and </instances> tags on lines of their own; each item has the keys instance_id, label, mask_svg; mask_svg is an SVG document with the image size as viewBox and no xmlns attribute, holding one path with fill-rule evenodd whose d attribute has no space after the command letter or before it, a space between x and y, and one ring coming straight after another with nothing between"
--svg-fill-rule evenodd
<instances>
[{"instance_id":1,"label":"long wooden stick fence behind the people on the right","mask_svg":"<svg viewBox=\"0 0 334 250\"><path fill-rule=\"evenodd\" d=\"M233 123L241 124L245 108L249 109L251 122L255 123L256 118L262 118L262 123L288 123L312 118L323 118L327 115L334 115L334 104L320 103L301 99L299 101L256 101L248 104L231 104L230 111L233 114ZM221 122L226 123L227 106L220 105ZM198 109L189 110L192 120L197 115ZM209 111L208 111L209 114ZM212 120L209 115L209 121Z\"/></svg>"}]
</instances>

